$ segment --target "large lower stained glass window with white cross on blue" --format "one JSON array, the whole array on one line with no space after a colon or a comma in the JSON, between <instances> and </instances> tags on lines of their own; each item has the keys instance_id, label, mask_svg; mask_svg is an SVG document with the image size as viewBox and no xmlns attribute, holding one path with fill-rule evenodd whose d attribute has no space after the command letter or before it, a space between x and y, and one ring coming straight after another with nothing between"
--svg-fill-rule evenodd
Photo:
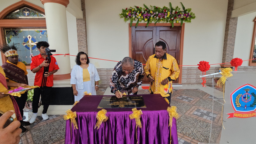
<instances>
[{"instance_id":1,"label":"large lower stained glass window with white cross on blue","mask_svg":"<svg viewBox=\"0 0 256 144\"><path fill-rule=\"evenodd\" d=\"M31 57L40 54L36 48L39 41L48 42L45 28L15 28L4 29L6 44L16 44L19 61L26 65L31 63Z\"/></svg>"}]
</instances>

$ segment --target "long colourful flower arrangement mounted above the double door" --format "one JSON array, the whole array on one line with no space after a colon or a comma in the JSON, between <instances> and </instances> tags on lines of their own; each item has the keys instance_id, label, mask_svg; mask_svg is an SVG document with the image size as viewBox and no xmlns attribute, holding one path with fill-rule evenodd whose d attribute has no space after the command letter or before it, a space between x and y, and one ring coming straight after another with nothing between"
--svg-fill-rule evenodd
<instances>
[{"instance_id":1,"label":"long colourful flower arrangement mounted above the double door","mask_svg":"<svg viewBox=\"0 0 256 144\"><path fill-rule=\"evenodd\" d=\"M144 21L147 22L146 27L148 27L149 23L155 22L169 22L173 23L181 23L181 26L183 22L191 22L191 19L195 19L196 16L193 12L191 12L191 9L185 9L184 5L180 2L182 5L181 10L178 6L176 8L172 7L172 4L170 4L170 8L164 6L163 8L151 6L148 8L144 4L145 8L134 6L130 8L123 9L122 13L120 13L120 18L124 18L124 21L130 20L130 27L132 27L132 22L137 21L136 26L138 26L139 22Z\"/></svg>"}]
</instances>

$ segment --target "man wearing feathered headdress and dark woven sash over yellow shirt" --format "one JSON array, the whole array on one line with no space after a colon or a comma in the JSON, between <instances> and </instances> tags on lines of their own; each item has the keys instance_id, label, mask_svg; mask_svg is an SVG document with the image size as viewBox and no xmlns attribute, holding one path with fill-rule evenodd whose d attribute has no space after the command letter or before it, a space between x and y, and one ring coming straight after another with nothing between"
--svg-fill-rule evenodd
<instances>
[{"instance_id":1,"label":"man wearing feathered headdress and dark woven sash over yellow shirt","mask_svg":"<svg viewBox=\"0 0 256 144\"><path fill-rule=\"evenodd\" d=\"M2 68L4 69L4 73L6 75L6 81L11 83L21 83L21 84L28 84L28 77L27 77L27 69L25 64L19 62L19 56L17 53L17 48L12 45L4 45L1 46L1 51L4 53L5 57L8 59L3 65ZM10 87L10 89L14 89L16 87ZM23 117L23 108L25 107L28 92L21 94L21 97L14 97L19 109L20 114ZM20 128L22 132L26 131L26 128L23 126L29 125L29 122L24 122L23 120L20 121L21 125Z\"/></svg>"}]
</instances>

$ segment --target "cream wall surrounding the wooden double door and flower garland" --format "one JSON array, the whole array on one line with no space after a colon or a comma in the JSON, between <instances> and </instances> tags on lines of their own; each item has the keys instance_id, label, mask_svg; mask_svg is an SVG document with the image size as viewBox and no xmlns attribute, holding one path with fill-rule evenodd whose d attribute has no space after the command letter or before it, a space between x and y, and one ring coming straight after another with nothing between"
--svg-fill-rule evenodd
<instances>
[{"instance_id":1,"label":"cream wall surrounding the wooden double door and flower garland","mask_svg":"<svg viewBox=\"0 0 256 144\"><path fill-rule=\"evenodd\" d=\"M169 2L85 0L89 57L120 61L129 56L129 22L120 19L122 8L144 3L169 7ZM172 6L181 7L179 2L172 2ZM221 63L228 0L183 0L182 3L196 14L196 19L185 25L183 65L197 65L201 60ZM111 61L90 61L96 68L116 65Z\"/></svg>"}]
</instances>

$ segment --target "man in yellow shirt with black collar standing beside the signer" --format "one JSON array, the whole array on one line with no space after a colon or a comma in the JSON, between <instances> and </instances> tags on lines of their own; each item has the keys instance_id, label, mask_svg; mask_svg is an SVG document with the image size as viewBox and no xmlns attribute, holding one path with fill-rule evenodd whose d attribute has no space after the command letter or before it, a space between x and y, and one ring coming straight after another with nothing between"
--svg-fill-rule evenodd
<instances>
[{"instance_id":1,"label":"man in yellow shirt with black collar standing beside the signer","mask_svg":"<svg viewBox=\"0 0 256 144\"><path fill-rule=\"evenodd\" d=\"M172 81L179 77L180 69L175 58L166 53L164 42L156 43L155 54L149 56L144 69L150 82L149 92L160 93L170 102Z\"/></svg>"}]
</instances>

